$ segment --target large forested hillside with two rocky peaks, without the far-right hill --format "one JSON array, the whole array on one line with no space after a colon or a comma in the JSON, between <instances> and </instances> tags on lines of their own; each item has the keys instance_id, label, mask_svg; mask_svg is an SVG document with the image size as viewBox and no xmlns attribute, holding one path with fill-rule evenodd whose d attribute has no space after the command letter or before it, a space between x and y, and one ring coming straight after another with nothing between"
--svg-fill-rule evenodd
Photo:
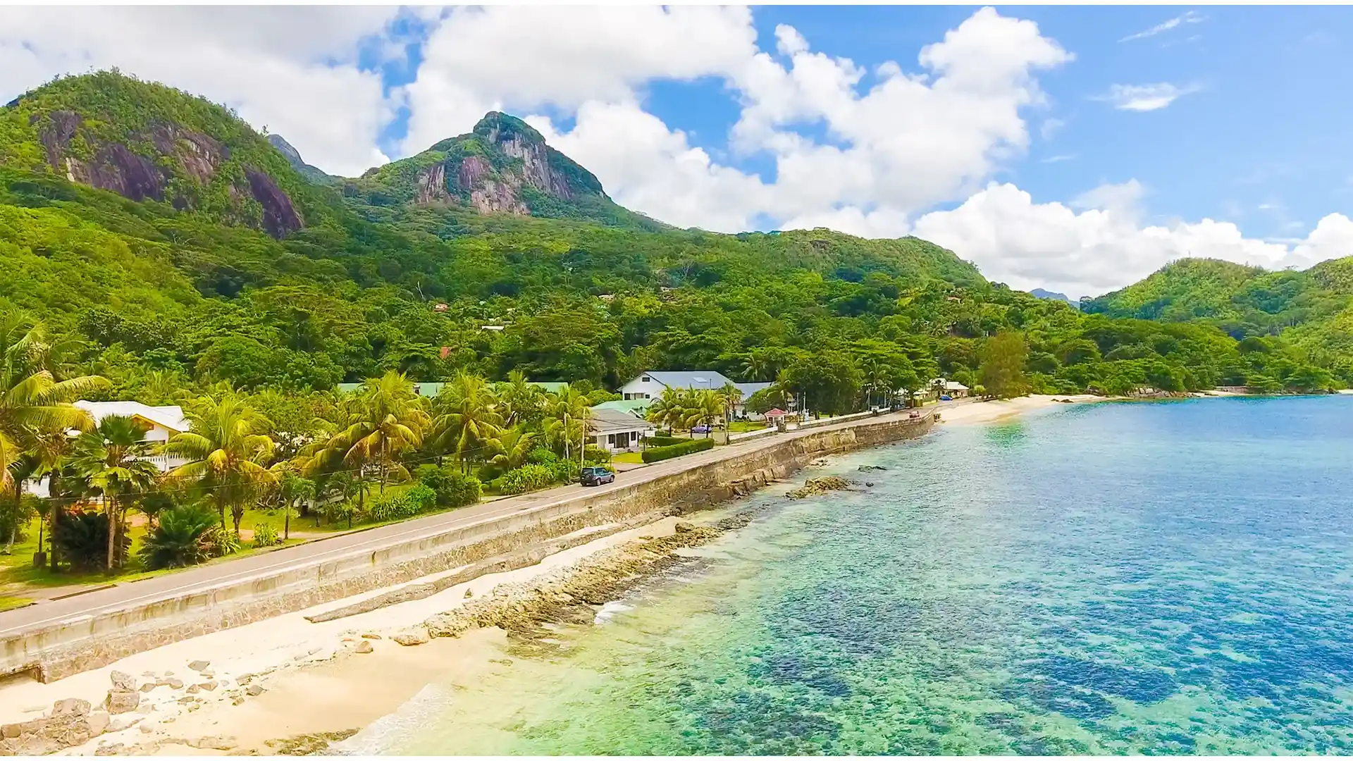
<instances>
[{"instance_id":1,"label":"large forested hillside with two rocky peaks, without the far-right hill","mask_svg":"<svg viewBox=\"0 0 1353 761\"><path fill-rule=\"evenodd\" d=\"M106 395L149 404L391 368L614 387L664 367L782 376L850 406L938 374L978 385L1003 332L1023 337L1012 390L1353 380L1348 351L1118 320L1164 314L1108 306L1138 303L1122 298L1081 314L917 238L678 230L616 206L503 114L356 179L287 149L118 73L26 93L0 108L0 310L77 339Z\"/></svg>"}]
</instances>

